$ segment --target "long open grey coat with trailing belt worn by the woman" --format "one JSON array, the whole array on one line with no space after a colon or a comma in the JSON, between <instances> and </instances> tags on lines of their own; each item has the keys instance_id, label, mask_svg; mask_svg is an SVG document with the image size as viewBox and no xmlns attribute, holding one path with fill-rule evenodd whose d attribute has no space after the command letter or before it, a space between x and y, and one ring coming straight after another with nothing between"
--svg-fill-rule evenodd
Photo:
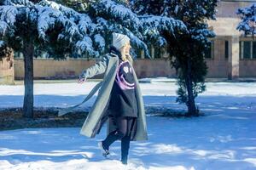
<instances>
[{"instance_id":1,"label":"long open grey coat with trailing belt worn by the woman","mask_svg":"<svg viewBox=\"0 0 256 170\"><path fill-rule=\"evenodd\" d=\"M84 70L81 74L82 77L90 78L98 74L104 73L103 81L98 83L96 87L91 90L90 94L87 95L84 101L79 104L82 105L84 102L90 99L90 97L92 97L93 94L95 94L96 91L99 89L96 101L94 105L92 105L92 108L84 121L84 125L80 130L80 133L87 137L94 138L96 136L96 133L100 133L104 122L107 122L108 126L107 135L108 133L113 132L117 128L113 121L113 118L108 117L108 102L110 99L110 92L113 87L113 82L116 76L116 71L118 69L118 64L118 55L112 53L106 54L102 57L100 61L96 62L95 65L92 65L88 69ZM130 65L131 68L133 68L131 63ZM131 140L147 140L148 133L143 97L137 80L137 75L135 71L132 72L135 80L135 94L137 99L138 116L137 121L134 123L134 126L131 130ZM79 105L75 105L73 107L59 111L58 116L62 116L72 111Z\"/></svg>"}]
</instances>

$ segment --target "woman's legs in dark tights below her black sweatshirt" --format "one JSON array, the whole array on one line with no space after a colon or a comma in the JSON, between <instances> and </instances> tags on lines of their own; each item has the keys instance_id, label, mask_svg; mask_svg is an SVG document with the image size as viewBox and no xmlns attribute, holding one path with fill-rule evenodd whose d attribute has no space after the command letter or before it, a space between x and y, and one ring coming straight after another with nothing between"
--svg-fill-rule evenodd
<instances>
[{"instance_id":1,"label":"woman's legs in dark tights below her black sweatshirt","mask_svg":"<svg viewBox=\"0 0 256 170\"><path fill-rule=\"evenodd\" d=\"M128 150L130 148L131 139L131 126L133 117L117 117L116 124L117 129L108 134L108 137L102 141L103 148L108 150L109 146L113 144L114 141L121 139L121 157L122 160L127 159Z\"/></svg>"}]
</instances>

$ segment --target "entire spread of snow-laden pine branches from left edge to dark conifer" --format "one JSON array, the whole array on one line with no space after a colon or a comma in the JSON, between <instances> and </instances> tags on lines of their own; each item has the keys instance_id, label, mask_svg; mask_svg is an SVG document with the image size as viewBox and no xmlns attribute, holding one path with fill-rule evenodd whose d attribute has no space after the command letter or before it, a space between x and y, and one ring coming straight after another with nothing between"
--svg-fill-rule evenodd
<instances>
[{"instance_id":1,"label":"entire spread of snow-laden pine branches from left edge to dark conifer","mask_svg":"<svg viewBox=\"0 0 256 170\"><path fill-rule=\"evenodd\" d=\"M0 38L14 36L17 18L26 16L22 20L30 20L36 26L38 39L44 43L50 42L49 32L56 31L56 41L68 42L73 51L99 57L111 44L113 31L124 33L131 38L132 45L143 48L149 57L145 42L148 37L154 38L160 46L166 44L161 31L170 31L173 35L177 31L186 31L183 22L165 16L139 16L124 5L111 0L101 0L91 4L94 12L81 14L59 3L43 0L40 3L30 3L27 0L6 0L0 7ZM51 50L52 51L52 50Z\"/></svg>"}]
</instances>

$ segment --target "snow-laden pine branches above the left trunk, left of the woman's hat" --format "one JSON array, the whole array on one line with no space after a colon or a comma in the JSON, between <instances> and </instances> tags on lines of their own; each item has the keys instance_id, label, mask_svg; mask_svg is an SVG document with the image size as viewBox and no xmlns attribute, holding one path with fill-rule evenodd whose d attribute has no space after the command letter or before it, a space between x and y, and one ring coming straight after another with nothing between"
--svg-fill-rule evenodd
<instances>
[{"instance_id":1,"label":"snow-laden pine branches above the left trunk, left of the woman's hat","mask_svg":"<svg viewBox=\"0 0 256 170\"><path fill-rule=\"evenodd\" d=\"M89 55L96 55L96 57L99 55L93 43L90 43L90 36L93 36L90 33L93 33L95 24L87 14L79 14L72 8L47 0L38 4L4 5L0 7L1 37L12 37L15 31L20 31L21 28L15 26L20 15L26 16L23 20L30 20L32 26L37 26L38 38L42 41L49 41L49 31L62 28L58 32L59 41L69 42L73 50L80 50L82 53L89 52Z\"/></svg>"}]
</instances>

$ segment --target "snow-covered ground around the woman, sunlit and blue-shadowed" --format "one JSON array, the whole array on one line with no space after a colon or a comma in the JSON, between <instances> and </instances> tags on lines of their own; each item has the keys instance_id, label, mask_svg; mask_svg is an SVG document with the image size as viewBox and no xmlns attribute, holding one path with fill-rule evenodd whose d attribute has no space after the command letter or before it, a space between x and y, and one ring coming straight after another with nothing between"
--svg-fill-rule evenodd
<instances>
[{"instance_id":1,"label":"snow-covered ground around the woman, sunlit and blue-shadowed","mask_svg":"<svg viewBox=\"0 0 256 170\"><path fill-rule=\"evenodd\" d=\"M35 84L36 107L78 104L96 82ZM175 82L141 83L145 105L185 110L177 105ZM21 107L23 86L0 86L0 108ZM88 108L90 99L81 109ZM97 141L79 128L30 128L0 132L0 169L256 169L256 83L207 82L196 99L207 116L147 116L148 141L131 142L127 167L119 162L120 142L104 160Z\"/></svg>"}]
</instances>

